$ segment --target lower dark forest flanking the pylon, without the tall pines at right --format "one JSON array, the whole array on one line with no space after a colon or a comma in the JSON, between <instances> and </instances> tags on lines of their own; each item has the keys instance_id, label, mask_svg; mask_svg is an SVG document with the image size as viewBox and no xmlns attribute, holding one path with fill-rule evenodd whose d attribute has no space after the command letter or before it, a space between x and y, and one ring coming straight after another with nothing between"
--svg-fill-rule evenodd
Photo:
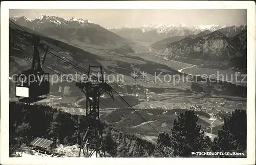
<instances>
[{"instance_id":1,"label":"lower dark forest flanking the pylon, without the tall pines at right","mask_svg":"<svg viewBox=\"0 0 256 165\"><path fill-rule=\"evenodd\" d=\"M44 105L10 103L10 153L36 137L54 140L56 145L75 145L82 129L86 129L84 115L72 115ZM105 125L104 123L102 123ZM79 137L79 139L77 138ZM144 157L151 155L154 144L105 125L103 138L106 151L114 157ZM124 151L127 149L127 152Z\"/></svg>"}]
</instances>

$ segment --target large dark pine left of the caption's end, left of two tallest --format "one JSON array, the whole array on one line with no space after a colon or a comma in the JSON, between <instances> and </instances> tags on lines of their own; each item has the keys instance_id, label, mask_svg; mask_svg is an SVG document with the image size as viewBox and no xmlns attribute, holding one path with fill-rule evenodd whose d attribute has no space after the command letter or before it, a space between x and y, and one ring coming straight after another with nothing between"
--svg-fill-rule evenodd
<instances>
[{"instance_id":1,"label":"large dark pine left of the caption's end, left of two tallest","mask_svg":"<svg viewBox=\"0 0 256 165\"><path fill-rule=\"evenodd\" d=\"M190 157L192 151L202 150L204 132L197 124L198 116L195 111L185 111L174 121L171 143L174 156Z\"/></svg>"}]
</instances>

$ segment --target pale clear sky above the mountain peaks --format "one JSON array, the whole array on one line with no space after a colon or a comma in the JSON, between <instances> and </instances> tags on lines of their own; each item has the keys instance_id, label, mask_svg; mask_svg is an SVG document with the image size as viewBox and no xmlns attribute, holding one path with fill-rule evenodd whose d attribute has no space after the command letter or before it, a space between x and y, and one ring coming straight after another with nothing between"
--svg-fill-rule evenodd
<instances>
[{"instance_id":1,"label":"pale clear sky above the mountain peaks","mask_svg":"<svg viewBox=\"0 0 256 165\"><path fill-rule=\"evenodd\" d=\"M142 27L148 25L246 25L246 9L194 9L194 10L113 10L113 9L11 9L10 16L27 16L35 19L41 15L63 18L88 19L103 27Z\"/></svg>"}]
</instances>

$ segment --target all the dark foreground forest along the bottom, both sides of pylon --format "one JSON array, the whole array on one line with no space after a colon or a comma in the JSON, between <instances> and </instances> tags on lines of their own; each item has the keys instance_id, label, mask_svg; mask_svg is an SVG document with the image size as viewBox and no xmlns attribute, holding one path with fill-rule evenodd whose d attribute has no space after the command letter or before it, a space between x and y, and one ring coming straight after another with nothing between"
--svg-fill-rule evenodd
<instances>
[{"instance_id":1,"label":"all the dark foreground forest along the bottom, both sides of pylon","mask_svg":"<svg viewBox=\"0 0 256 165\"><path fill-rule=\"evenodd\" d=\"M85 116L81 115L79 122L79 115L50 106L11 102L9 114L10 154L21 145L28 145L35 137L52 139L55 146L75 145L80 139L79 132L86 125ZM225 119L214 142L204 136L197 121L195 111L180 113L172 133L160 132L156 144L101 123L106 154L108 157L191 157L194 151L246 152L246 111L233 111Z\"/></svg>"}]
</instances>

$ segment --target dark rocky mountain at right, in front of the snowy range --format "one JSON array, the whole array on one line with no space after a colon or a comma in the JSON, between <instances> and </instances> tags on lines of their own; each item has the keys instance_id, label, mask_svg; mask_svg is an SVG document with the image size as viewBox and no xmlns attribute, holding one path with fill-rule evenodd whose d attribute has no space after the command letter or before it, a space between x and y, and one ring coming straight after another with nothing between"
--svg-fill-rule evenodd
<instances>
[{"instance_id":1,"label":"dark rocky mountain at right, in front of the snowy range","mask_svg":"<svg viewBox=\"0 0 256 165\"><path fill-rule=\"evenodd\" d=\"M167 59L200 66L246 68L246 43L246 30L232 38L220 31L214 31L170 43L165 56Z\"/></svg>"}]
</instances>

